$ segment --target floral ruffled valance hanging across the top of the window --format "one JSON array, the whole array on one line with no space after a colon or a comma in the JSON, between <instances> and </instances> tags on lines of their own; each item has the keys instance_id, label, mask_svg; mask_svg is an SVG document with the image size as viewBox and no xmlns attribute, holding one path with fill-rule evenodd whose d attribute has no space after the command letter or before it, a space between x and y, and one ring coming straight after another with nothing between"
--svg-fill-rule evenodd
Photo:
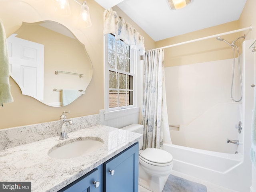
<instances>
[{"instance_id":1,"label":"floral ruffled valance hanging across the top of the window","mask_svg":"<svg viewBox=\"0 0 256 192\"><path fill-rule=\"evenodd\" d=\"M116 40L124 40L132 49L139 50L140 55L144 55L144 37L131 24L118 16L111 8L104 11L103 20L103 34L115 34Z\"/></svg>"}]
</instances>

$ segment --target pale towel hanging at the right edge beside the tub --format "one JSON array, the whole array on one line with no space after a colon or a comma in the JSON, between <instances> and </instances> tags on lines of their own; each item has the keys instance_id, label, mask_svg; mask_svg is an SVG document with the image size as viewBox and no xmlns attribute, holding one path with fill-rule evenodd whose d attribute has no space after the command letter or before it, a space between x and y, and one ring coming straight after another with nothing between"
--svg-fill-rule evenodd
<instances>
[{"instance_id":1,"label":"pale towel hanging at the right edge beside the tub","mask_svg":"<svg viewBox=\"0 0 256 192\"><path fill-rule=\"evenodd\" d=\"M256 98L254 99L254 110L252 115L252 127L251 127L252 146L250 149L250 158L252 165L256 168Z\"/></svg>"}]
</instances>

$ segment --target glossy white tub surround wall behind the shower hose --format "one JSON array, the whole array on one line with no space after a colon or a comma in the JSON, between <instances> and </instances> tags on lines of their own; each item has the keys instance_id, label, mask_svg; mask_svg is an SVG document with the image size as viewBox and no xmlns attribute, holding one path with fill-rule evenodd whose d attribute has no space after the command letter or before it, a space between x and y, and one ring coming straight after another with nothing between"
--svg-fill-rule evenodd
<instances>
[{"instance_id":1,"label":"glossy white tub surround wall behind the shower hose","mask_svg":"<svg viewBox=\"0 0 256 192\"><path fill-rule=\"evenodd\" d=\"M168 121L180 125L179 130L170 127L173 144L235 153L237 146L226 143L238 140L235 125L242 121L241 104L230 97L232 65L227 59L165 68ZM239 99L238 58L235 72L233 97Z\"/></svg>"}]
</instances>

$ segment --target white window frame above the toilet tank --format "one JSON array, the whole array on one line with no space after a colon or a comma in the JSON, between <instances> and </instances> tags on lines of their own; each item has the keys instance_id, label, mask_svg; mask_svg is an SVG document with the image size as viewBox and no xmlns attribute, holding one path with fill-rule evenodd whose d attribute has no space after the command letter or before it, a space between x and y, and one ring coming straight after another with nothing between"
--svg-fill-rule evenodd
<instances>
[{"instance_id":1,"label":"white window frame above the toilet tank","mask_svg":"<svg viewBox=\"0 0 256 192\"><path fill-rule=\"evenodd\" d=\"M104 110L105 110L105 113L134 108L137 106L136 64L138 61L138 51L130 48L130 72L125 72L123 70L110 68L108 66L108 35L109 34L104 35ZM127 74L127 75L133 76L133 78L132 78L132 105L109 108L109 90L110 90L109 89L109 71L118 72L118 74L120 72L122 74ZM127 84L126 84L126 86L127 86ZM128 90L128 89L126 89L126 90ZM126 98L126 102L127 101L128 100Z\"/></svg>"}]
</instances>

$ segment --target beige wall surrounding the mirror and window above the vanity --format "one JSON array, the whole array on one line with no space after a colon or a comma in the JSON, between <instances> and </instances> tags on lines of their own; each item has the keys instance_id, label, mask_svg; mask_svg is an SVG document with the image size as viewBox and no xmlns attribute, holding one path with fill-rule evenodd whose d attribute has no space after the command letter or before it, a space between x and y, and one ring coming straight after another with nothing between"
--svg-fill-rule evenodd
<instances>
[{"instance_id":1,"label":"beige wall surrounding the mirror and window above the vanity","mask_svg":"<svg viewBox=\"0 0 256 192\"><path fill-rule=\"evenodd\" d=\"M26 2L26 0L24 0ZM8 6L9 2L13 2L12 6ZM19 14L24 18L24 22L38 22L40 20L51 20L52 15L49 13L44 14L42 10L50 9L52 0L44 0L37 2L31 2L28 0L27 3L17 2L10 0L0 0L0 18L4 23L6 30L6 36L9 36L15 32L21 25L22 21L19 20ZM42 2L44 5L41 5ZM0 128L11 128L15 126L22 126L28 124L37 124L41 122L49 122L59 120L59 116L63 111L70 110L68 118L74 118L78 116L86 116L91 114L98 114L100 109L104 108L104 81L103 81L103 12L99 4L94 0L87 0L87 5L90 8L90 17L92 20L92 26L90 28L81 30L74 29L72 24L68 23L68 20L75 21L78 13L74 13L66 18L54 17L52 20L56 20L65 26L70 26L72 32L80 35L79 39L85 44L86 50L93 66L93 76L85 95L75 100L72 104L64 107L50 107L46 106L31 98L30 96L24 96L21 94L20 88L10 78L11 92L14 98L14 102L4 104L4 107L0 107ZM33 4L33 8L29 4ZM45 4L48 6L46 7ZM75 1L70 1L70 8L72 10L80 6ZM30 10L29 12L26 10ZM155 48L155 42L132 20L127 18L118 7L113 8L120 16L125 18L127 22L130 22L145 39L146 50ZM35 16L36 15L36 16ZM15 24L13 24L15 22ZM17 24L18 23L18 24Z\"/></svg>"}]
</instances>

